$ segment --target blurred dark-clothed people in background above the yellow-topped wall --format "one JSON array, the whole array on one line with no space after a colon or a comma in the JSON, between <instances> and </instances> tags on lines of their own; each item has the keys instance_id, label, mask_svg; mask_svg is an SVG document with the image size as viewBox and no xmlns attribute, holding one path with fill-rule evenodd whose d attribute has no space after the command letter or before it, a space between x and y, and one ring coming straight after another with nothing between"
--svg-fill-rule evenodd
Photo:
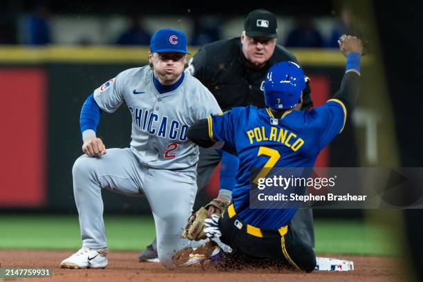
<instances>
[{"instance_id":1,"label":"blurred dark-clothed people in background above the yellow-topped wall","mask_svg":"<svg viewBox=\"0 0 423 282\"><path fill-rule=\"evenodd\" d=\"M332 15L329 24L330 30L326 28L326 32L322 32L319 25L316 24L315 18L308 15L299 15L292 19L290 28L285 30L283 36L279 37L278 43L294 48L337 48L337 40L340 35L353 32L353 19L352 10L344 7ZM225 20L227 19L217 16L191 16L189 44L191 46L202 46L224 39L223 23ZM53 23L50 13L45 6L38 6L24 17L16 19L16 21L19 22L14 23L7 18L0 20L0 44L26 44L31 46L57 44L52 31ZM142 15L129 15L126 18L125 27L106 44L121 46L148 45L153 32L154 30L146 27ZM79 45L95 44L89 37L81 37L73 43Z\"/></svg>"}]
</instances>

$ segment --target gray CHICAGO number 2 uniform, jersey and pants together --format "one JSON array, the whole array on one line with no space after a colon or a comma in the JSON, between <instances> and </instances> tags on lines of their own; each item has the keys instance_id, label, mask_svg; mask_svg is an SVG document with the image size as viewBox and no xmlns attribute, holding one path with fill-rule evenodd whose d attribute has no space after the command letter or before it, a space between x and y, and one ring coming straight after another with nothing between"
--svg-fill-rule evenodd
<instances>
[{"instance_id":1,"label":"gray CHICAGO number 2 uniform, jersey and pants together","mask_svg":"<svg viewBox=\"0 0 423 282\"><path fill-rule=\"evenodd\" d=\"M156 225L158 257L171 266L174 252L189 244L180 233L197 191L198 147L187 139L187 129L211 113L220 113L220 107L187 72L173 91L160 94L149 66L123 71L97 88L94 98L109 113L126 103L132 115L132 141L131 148L108 149L97 158L83 155L73 165L82 245L93 249L107 245L101 189L144 194Z\"/></svg>"}]
</instances>

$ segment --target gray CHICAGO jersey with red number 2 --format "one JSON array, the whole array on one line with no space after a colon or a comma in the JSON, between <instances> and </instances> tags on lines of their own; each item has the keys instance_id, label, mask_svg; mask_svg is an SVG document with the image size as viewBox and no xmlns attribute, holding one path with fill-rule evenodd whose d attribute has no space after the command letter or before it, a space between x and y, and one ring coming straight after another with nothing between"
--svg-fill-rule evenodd
<instances>
[{"instance_id":1,"label":"gray CHICAGO jersey with red number 2","mask_svg":"<svg viewBox=\"0 0 423 282\"><path fill-rule=\"evenodd\" d=\"M187 139L187 129L221 112L212 93L188 72L178 88L160 94L149 66L123 71L95 89L94 98L109 113L126 103L132 115L131 150L141 164L155 169L195 169L198 147Z\"/></svg>"}]
</instances>

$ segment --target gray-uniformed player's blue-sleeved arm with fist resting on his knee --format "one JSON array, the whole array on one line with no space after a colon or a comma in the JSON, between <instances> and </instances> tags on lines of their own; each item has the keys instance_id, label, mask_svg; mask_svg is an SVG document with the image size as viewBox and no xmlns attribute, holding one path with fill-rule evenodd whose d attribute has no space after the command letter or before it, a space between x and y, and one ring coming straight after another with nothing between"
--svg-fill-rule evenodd
<instances>
[{"instance_id":1,"label":"gray-uniformed player's blue-sleeved arm with fist resting on his knee","mask_svg":"<svg viewBox=\"0 0 423 282\"><path fill-rule=\"evenodd\" d=\"M106 147L100 138L95 136L97 125L100 122L101 109L95 102L93 95L88 96L82 106L79 117L79 126L82 133L82 151L88 156L104 155Z\"/></svg>"}]
</instances>

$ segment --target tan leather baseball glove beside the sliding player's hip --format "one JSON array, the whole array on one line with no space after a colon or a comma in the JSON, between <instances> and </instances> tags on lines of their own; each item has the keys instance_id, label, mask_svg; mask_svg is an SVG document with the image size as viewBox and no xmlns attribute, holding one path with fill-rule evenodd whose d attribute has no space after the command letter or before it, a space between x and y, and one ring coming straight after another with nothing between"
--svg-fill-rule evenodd
<instances>
[{"instance_id":1,"label":"tan leather baseball glove beside the sliding player's hip","mask_svg":"<svg viewBox=\"0 0 423 282\"><path fill-rule=\"evenodd\" d=\"M205 207L200 207L195 214L191 214L188 218L188 223L182 232L182 238L187 238L188 240L200 241L207 238L204 232L204 220L212 216L209 213L210 207L212 207L213 214L218 214L219 216L226 209L229 203L220 198L212 200Z\"/></svg>"}]
</instances>

